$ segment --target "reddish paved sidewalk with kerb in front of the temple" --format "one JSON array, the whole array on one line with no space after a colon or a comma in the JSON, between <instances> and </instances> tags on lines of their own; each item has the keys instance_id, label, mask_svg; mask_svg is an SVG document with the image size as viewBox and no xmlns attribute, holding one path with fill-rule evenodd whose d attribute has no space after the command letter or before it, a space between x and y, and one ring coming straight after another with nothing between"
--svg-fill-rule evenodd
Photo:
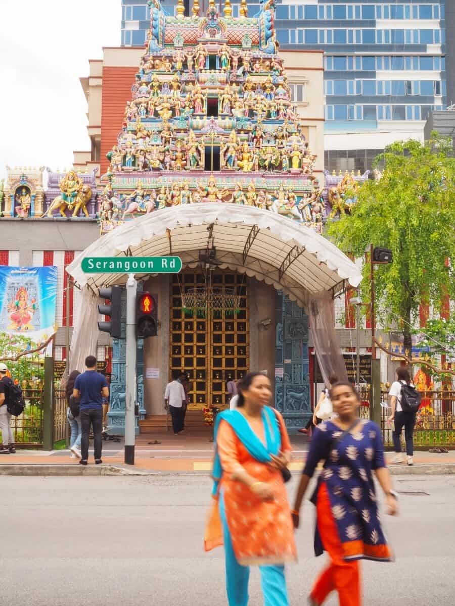
<instances>
[{"instance_id":1,"label":"reddish paved sidewalk with kerb in front of the temple","mask_svg":"<svg viewBox=\"0 0 455 606\"><path fill-rule=\"evenodd\" d=\"M211 471L213 444L209 442L209 435L166 435L153 434L141 435L136 440L135 465L124 466L123 442L107 441L103 442L103 465L97 465L97 468L103 468L107 465L110 468L120 468L126 470L149 471L150 473L178 473L178 472L206 472ZM158 444L155 444L158 442ZM290 465L291 471L298 472L303 468L308 451L308 438L304 436L294 436L291 440L293 461ZM394 453L386 453L386 460L389 462L394 457ZM83 467L78 464L77 459L70 458L69 450L18 450L16 454L4 454L0 457L0 474L10 470L13 466L23 466L29 468L25 473L38 472L38 468L44 466L47 469L58 465L64 465L66 470L70 467L78 468L68 471L69 474L78 474L95 468L93 465L93 450L90 448L89 465ZM63 470L62 470L63 471ZM394 474L404 473L455 473L455 450L447 454L429 453L425 451L416 451L414 453L414 465L391 465L391 471ZM95 473L94 471L86 473ZM104 473L102 469L99 472ZM41 473L36 473L41 474Z\"/></svg>"}]
</instances>

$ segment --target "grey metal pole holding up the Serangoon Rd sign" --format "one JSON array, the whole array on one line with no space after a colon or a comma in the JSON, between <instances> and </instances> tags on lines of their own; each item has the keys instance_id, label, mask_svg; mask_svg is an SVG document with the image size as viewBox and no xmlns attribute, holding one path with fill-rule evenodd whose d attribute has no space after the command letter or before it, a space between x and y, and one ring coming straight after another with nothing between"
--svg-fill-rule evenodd
<instances>
[{"instance_id":1,"label":"grey metal pole holding up the Serangoon Rd sign","mask_svg":"<svg viewBox=\"0 0 455 606\"><path fill-rule=\"evenodd\" d=\"M134 465L136 433L136 289L133 274L126 282L126 410L125 410L125 463Z\"/></svg>"}]
</instances>

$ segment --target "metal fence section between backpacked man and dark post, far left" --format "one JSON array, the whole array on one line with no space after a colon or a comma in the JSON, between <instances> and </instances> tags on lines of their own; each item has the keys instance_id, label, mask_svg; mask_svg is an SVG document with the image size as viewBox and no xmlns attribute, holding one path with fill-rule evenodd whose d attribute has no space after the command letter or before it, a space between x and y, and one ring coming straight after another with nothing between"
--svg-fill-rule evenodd
<instances>
[{"instance_id":1,"label":"metal fence section between backpacked man and dark post, far left","mask_svg":"<svg viewBox=\"0 0 455 606\"><path fill-rule=\"evenodd\" d=\"M42 390L25 389L22 392L25 409L22 415L13 416L11 427L15 443L21 446L41 446L42 444Z\"/></svg>"}]
</instances>

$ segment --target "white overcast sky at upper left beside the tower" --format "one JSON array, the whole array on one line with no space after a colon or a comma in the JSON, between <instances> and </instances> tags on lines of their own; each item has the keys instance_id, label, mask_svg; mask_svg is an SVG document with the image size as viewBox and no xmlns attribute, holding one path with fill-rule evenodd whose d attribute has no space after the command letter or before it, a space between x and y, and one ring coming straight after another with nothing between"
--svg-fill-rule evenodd
<instances>
[{"instance_id":1,"label":"white overcast sky at upper left beside the tower","mask_svg":"<svg viewBox=\"0 0 455 606\"><path fill-rule=\"evenodd\" d=\"M0 178L5 165L72 164L89 150L79 78L120 46L121 0L0 0Z\"/></svg>"}]
</instances>

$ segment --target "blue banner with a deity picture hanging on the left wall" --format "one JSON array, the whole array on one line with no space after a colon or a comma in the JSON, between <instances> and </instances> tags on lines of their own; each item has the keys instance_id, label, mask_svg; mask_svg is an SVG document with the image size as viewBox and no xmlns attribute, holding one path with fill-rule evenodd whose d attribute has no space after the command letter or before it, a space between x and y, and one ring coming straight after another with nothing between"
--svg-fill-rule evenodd
<instances>
[{"instance_id":1,"label":"blue banner with a deity picture hanging on the left wall","mask_svg":"<svg viewBox=\"0 0 455 606\"><path fill-rule=\"evenodd\" d=\"M0 266L0 332L35 342L55 333L57 268Z\"/></svg>"}]
</instances>

